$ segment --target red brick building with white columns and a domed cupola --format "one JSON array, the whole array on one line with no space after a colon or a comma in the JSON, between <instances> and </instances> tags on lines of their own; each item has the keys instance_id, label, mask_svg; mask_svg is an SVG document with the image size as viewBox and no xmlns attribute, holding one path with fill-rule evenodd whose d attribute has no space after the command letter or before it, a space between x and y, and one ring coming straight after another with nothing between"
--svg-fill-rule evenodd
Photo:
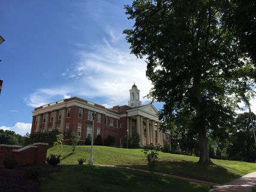
<instances>
[{"instance_id":1,"label":"red brick building with white columns and a domed cupola","mask_svg":"<svg viewBox=\"0 0 256 192\"><path fill-rule=\"evenodd\" d=\"M96 113L94 139L98 134L102 140L112 135L119 146L121 138L126 134L131 137L136 131L140 135L140 146L163 145L163 140L170 140L170 135L159 129L158 111L152 104L142 105L140 90L135 84L130 90L128 105L109 109L74 97L35 108L31 133L58 129L64 134L71 129L80 135L80 144L83 144L88 135L92 135L93 112Z\"/></svg>"}]
</instances>

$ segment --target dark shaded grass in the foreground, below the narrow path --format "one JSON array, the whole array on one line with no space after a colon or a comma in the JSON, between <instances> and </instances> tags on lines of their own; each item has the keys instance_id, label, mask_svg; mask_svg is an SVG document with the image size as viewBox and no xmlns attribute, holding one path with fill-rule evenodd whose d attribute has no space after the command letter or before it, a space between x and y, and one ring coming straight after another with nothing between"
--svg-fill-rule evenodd
<instances>
[{"instance_id":1,"label":"dark shaded grass in the foreground, below the narrow path","mask_svg":"<svg viewBox=\"0 0 256 192\"><path fill-rule=\"evenodd\" d=\"M210 187L133 170L61 165L60 173L40 185L42 191L209 191Z\"/></svg>"}]
</instances>

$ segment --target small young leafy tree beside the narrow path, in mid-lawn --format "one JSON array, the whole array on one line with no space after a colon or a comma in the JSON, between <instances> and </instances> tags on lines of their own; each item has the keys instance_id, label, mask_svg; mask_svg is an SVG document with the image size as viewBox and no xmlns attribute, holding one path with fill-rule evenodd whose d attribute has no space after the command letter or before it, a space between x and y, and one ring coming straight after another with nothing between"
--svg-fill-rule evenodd
<instances>
[{"instance_id":1,"label":"small young leafy tree beside the narrow path, in mid-lawn","mask_svg":"<svg viewBox=\"0 0 256 192\"><path fill-rule=\"evenodd\" d=\"M155 163L157 163L159 155L158 151L158 147L154 147L152 145L149 147L144 147L144 149L142 150L148 161L149 170L151 171L154 170Z\"/></svg>"}]
</instances>

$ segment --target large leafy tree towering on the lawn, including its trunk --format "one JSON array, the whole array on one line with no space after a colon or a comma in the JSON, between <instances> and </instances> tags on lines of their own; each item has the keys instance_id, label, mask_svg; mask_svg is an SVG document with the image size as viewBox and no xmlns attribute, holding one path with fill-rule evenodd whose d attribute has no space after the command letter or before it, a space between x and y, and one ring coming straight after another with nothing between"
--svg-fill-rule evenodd
<instances>
[{"instance_id":1,"label":"large leafy tree towering on the lawn, including its trunk","mask_svg":"<svg viewBox=\"0 0 256 192\"><path fill-rule=\"evenodd\" d=\"M125 5L131 53L145 58L149 97L164 102L163 124L188 119L199 163L210 163L207 133L222 134L238 103L252 96L255 67L225 21L231 1L135 0Z\"/></svg>"}]
</instances>

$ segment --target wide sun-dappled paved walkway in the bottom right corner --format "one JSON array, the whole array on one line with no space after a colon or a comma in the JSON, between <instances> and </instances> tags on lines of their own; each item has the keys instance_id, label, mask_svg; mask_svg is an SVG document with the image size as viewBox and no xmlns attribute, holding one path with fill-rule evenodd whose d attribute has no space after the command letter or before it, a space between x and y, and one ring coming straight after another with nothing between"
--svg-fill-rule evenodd
<instances>
[{"instance_id":1,"label":"wide sun-dappled paved walkway in the bottom right corner","mask_svg":"<svg viewBox=\"0 0 256 192\"><path fill-rule=\"evenodd\" d=\"M251 192L256 185L256 172L249 173L242 178L214 187L210 192Z\"/></svg>"}]
</instances>

